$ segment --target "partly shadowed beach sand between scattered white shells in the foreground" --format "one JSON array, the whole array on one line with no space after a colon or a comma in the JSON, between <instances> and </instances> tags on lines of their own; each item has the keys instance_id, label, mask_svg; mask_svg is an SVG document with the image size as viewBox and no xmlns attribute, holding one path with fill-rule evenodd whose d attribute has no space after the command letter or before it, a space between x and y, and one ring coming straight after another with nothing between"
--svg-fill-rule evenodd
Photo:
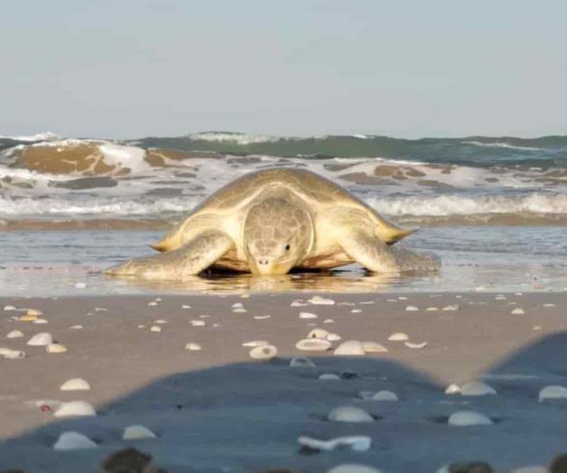
<instances>
[{"instance_id":1,"label":"partly shadowed beach sand between scattered white shells in the foreground","mask_svg":"<svg viewBox=\"0 0 567 473\"><path fill-rule=\"evenodd\" d=\"M0 299L0 347L26 353L22 359L0 359L0 470L96 471L101 459L127 446L153 455L170 473L324 472L341 463L392 473L434 472L471 460L509 471L547 465L567 451L567 402L538 403L545 385L567 385L567 294L322 294L334 305L313 305L307 302L312 295ZM306 305L292 307L298 299ZM246 312L234 311L238 302ZM457 310L442 310L454 304ZM40 310L48 323L10 320L25 311L2 311L6 305ZM407 311L410 305L418 310ZM525 313L512 314L517 308ZM302 311L317 318L300 318ZM71 329L74 325L82 329ZM161 331L151 331L153 325ZM339 334L333 348L358 339L380 343L388 352L338 357L332 350L295 348L315 327ZM7 339L15 329L24 336ZM68 351L50 354L26 345L43 331ZM394 332L427 345L408 348L404 341L388 341ZM269 341L277 357L252 359L250 348L242 346L251 340ZM188 343L201 349L187 350ZM317 367L292 368L292 357L309 357ZM318 379L345 372L355 375ZM86 379L91 389L60 391L73 377ZM451 383L474 379L497 394L444 393ZM399 401L363 401L359 394L384 389ZM98 415L54 417L57 402L73 400L92 403ZM42 411L34 402L50 409ZM327 414L340 405L361 407L376 421L329 422ZM495 423L447 425L460 410L485 413ZM146 426L157 438L123 441L122 431L132 424ZM53 450L63 431L79 431L98 448ZM372 444L365 452L306 454L300 452L300 435L367 435Z\"/></svg>"}]
</instances>

